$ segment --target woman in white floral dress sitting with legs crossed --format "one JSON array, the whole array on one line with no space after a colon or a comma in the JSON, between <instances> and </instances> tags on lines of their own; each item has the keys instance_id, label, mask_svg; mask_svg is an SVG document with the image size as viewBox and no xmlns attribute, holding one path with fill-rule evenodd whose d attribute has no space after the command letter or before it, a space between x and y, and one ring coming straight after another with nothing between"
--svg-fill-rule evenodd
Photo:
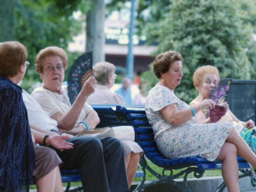
<instances>
[{"instance_id":1,"label":"woman in white floral dress sitting with legs crossed","mask_svg":"<svg viewBox=\"0 0 256 192\"><path fill-rule=\"evenodd\" d=\"M180 84L182 57L167 51L153 62L159 82L150 90L145 110L156 144L167 158L201 156L209 161L222 161L222 176L228 191L238 192L237 155L256 167L256 155L236 132L231 122L197 124L196 114L214 108L213 100L205 99L189 107L174 93Z\"/></svg>"}]
</instances>

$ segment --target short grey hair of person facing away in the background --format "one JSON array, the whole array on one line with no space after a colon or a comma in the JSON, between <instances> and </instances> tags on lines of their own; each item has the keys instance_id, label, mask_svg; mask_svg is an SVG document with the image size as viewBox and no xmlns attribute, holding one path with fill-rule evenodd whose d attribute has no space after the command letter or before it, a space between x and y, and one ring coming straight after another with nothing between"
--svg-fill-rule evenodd
<instances>
[{"instance_id":1,"label":"short grey hair of person facing away in the background","mask_svg":"<svg viewBox=\"0 0 256 192\"><path fill-rule=\"evenodd\" d=\"M116 67L106 61L96 63L93 66L93 73L98 84L105 85L108 83L108 77L115 74Z\"/></svg>"}]
</instances>

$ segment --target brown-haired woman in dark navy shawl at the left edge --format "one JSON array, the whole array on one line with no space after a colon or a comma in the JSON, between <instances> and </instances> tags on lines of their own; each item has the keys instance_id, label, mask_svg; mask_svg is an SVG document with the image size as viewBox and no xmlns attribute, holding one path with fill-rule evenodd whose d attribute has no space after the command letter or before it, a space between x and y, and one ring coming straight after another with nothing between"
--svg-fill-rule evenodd
<instances>
[{"instance_id":1,"label":"brown-haired woman in dark navy shawl at the left edge","mask_svg":"<svg viewBox=\"0 0 256 192\"><path fill-rule=\"evenodd\" d=\"M28 191L33 175L35 153L27 109L16 85L25 74L27 56L18 42L0 44L0 191Z\"/></svg>"}]
</instances>

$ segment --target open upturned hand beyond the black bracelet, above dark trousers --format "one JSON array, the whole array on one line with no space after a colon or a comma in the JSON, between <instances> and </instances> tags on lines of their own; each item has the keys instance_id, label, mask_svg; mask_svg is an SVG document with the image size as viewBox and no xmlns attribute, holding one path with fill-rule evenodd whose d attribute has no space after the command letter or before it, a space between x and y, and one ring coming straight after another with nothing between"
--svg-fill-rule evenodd
<instances>
[{"instance_id":1,"label":"open upturned hand beyond the black bracelet, above dark trousers","mask_svg":"<svg viewBox=\"0 0 256 192\"><path fill-rule=\"evenodd\" d=\"M50 144L52 147L62 150L62 149L72 149L73 143L69 143L65 141L65 139L69 139L69 136L62 135L51 135L47 137L46 143Z\"/></svg>"}]
</instances>

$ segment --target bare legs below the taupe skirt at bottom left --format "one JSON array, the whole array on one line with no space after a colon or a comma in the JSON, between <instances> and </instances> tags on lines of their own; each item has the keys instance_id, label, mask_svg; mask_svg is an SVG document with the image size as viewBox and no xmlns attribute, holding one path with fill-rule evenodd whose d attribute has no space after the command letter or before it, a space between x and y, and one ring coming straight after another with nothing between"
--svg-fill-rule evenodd
<instances>
[{"instance_id":1,"label":"bare legs below the taupe skirt at bottom left","mask_svg":"<svg viewBox=\"0 0 256 192\"><path fill-rule=\"evenodd\" d=\"M59 166L55 167L51 172L45 175L43 178L36 181L36 188L38 192L63 192L62 183L56 184L56 180L59 180L60 175L58 176L56 173L60 172ZM61 177L60 177L61 180ZM59 182L59 181L58 181Z\"/></svg>"}]
</instances>

